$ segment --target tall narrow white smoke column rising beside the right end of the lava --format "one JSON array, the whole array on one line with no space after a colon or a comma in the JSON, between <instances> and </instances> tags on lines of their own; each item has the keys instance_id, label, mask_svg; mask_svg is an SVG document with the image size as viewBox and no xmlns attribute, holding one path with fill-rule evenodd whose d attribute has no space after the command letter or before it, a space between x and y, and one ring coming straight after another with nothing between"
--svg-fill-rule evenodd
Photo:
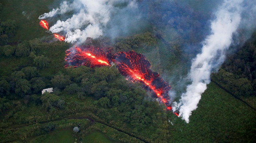
<instances>
[{"instance_id":1,"label":"tall narrow white smoke column rising beside the right end of the lava","mask_svg":"<svg viewBox=\"0 0 256 143\"><path fill-rule=\"evenodd\" d=\"M210 83L210 74L223 63L224 52L232 43L232 34L240 24L242 0L224 1L216 12L216 19L211 23L211 35L203 42L202 52L192 60L188 77L192 83L187 86L180 103L174 103L174 111L179 109L180 116L187 123L192 111L197 108L201 94Z\"/></svg>"}]
</instances>

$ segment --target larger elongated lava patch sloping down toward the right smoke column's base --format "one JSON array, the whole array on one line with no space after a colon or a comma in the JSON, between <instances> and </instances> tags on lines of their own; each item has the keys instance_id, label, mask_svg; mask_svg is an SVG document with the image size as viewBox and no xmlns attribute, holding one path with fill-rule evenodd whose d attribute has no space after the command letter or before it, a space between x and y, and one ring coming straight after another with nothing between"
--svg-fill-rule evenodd
<instances>
[{"instance_id":1,"label":"larger elongated lava patch sloping down toward the right smoke column's base","mask_svg":"<svg viewBox=\"0 0 256 143\"><path fill-rule=\"evenodd\" d=\"M143 83L144 88L152 90L154 96L164 103L166 109L171 110L168 95L171 87L159 77L157 72L150 70L151 65L144 55L134 51L119 52L113 56L113 62L116 63L119 72L126 76L127 80Z\"/></svg>"}]
</instances>

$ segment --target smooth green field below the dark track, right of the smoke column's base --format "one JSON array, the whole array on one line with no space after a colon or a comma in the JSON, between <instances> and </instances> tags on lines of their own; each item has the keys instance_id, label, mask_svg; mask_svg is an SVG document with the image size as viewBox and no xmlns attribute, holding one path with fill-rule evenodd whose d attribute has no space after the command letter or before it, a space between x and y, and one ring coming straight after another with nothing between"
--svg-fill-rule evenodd
<instances>
[{"instance_id":1,"label":"smooth green field below the dark track, right of the smoke column's base","mask_svg":"<svg viewBox=\"0 0 256 143\"><path fill-rule=\"evenodd\" d=\"M232 140L246 142L246 136L255 137L255 118L256 112L252 108L210 83L202 94L198 108L192 112L190 123L172 120L172 142L181 143L188 139L208 143L228 142L231 135Z\"/></svg>"}]
</instances>

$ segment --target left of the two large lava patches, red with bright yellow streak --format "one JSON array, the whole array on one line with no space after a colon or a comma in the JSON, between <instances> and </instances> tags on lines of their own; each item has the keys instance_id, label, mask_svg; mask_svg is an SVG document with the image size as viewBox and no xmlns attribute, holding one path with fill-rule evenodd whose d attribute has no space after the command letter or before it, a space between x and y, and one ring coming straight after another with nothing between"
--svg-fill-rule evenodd
<instances>
[{"instance_id":1,"label":"left of the two large lava patches, red with bright yellow streak","mask_svg":"<svg viewBox=\"0 0 256 143\"><path fill-rule=\"evenodd\" d=\"M74 47L66 51L65 61L68 66L79 67L81 65L88 67L110 66L111 53L104 52L100 48L91 46Z\"/></svg>"}]
</instances>

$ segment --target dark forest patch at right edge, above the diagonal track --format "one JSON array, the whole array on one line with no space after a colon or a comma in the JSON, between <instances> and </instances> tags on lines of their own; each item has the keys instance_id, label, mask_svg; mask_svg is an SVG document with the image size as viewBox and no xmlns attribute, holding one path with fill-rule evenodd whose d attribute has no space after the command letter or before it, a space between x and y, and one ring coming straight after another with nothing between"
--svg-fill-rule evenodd
<instances>
[{"instance_id":1,"label":"dark forest patch at right edge, above the diagonal track","mask_svg":"<svg viewBox=\"0 0 256 143\"><path fill-rule=\"evenodd\" d=\"M256 95L256 34L234 49L213 78L236 96Z\"/></svg>"}]
</instances>

